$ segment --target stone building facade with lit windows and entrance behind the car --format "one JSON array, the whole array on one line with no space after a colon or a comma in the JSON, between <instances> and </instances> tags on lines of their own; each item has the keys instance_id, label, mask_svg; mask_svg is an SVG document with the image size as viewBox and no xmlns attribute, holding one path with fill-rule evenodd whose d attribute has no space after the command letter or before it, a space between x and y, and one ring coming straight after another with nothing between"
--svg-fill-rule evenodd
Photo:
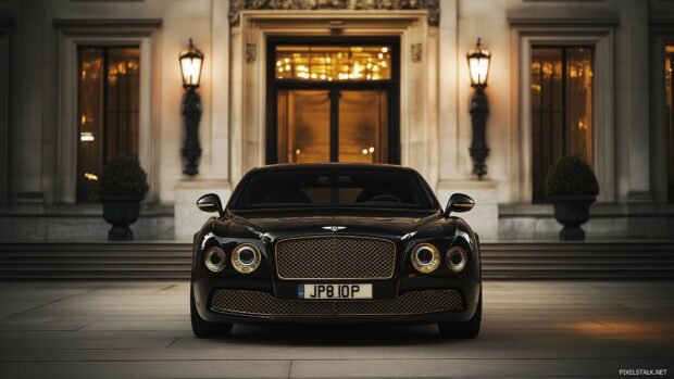
<instances>
[{"instance_id":1,"label":"stone building facade with lit windows and entrance behind the car","mask_svg":"<svg viewBox=\"0 0 674 379\"><path fill-rule=\"evenodd\" d=\"M198 174L184 174L178 55L203 52ZM490 51L486 174L473 173L466 52ZM191 237L204 192L255 166L416 168L472 194L483 239L550 239L549 167L600 193L588 239L674 236L674 2L0 1L0 238L103 239L97 178L148 173L141 239Z\"/></svg>"}]
</instances>

